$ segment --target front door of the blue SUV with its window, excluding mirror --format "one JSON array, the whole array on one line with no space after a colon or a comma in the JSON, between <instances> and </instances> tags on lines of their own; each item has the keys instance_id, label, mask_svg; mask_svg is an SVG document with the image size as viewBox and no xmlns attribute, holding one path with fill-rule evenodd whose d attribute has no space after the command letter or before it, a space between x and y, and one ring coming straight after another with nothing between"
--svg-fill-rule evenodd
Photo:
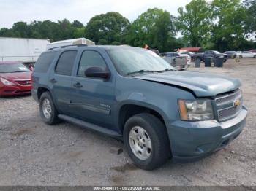
<instances>
[{"instance_id":1,"label":"front door of the blue SUV with its window, excluding mirror","mask_svg":"<svg viewBox=\"0 0 256 191\"><path fill-rule=\"evenodd\" d=\"M89 66L101 66L108 70L102 55L94 50L85 50L80 58L78 71L72 77L70 108L74 117L96 125L113 128L111 109L115 104L114 77L109 79L85 76Z\"/></svg>"}]
</instances>

